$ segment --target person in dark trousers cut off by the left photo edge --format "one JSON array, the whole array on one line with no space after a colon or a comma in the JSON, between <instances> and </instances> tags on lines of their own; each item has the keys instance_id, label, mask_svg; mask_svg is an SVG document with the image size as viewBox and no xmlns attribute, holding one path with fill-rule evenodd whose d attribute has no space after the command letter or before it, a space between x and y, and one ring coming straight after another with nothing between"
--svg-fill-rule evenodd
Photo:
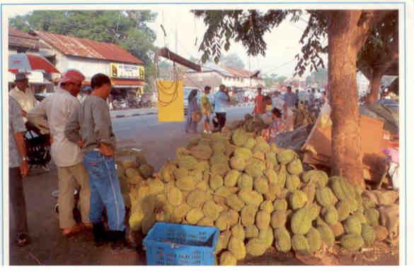
<instances>
[{"instance_id":1,"label":"person in dark trousers cut off by the left photo edge","mask_svg":"<svg viewBox=\"0 0 414 276\"><path fill-rule=\"evenodd\" d=\"M16 223L17 245L28 244L28 217L23 191L23 179L29 172L27 151L25 148L23 110L20 104L8 97L8 193L9 213Z\"/></svg>"}]
</instances>

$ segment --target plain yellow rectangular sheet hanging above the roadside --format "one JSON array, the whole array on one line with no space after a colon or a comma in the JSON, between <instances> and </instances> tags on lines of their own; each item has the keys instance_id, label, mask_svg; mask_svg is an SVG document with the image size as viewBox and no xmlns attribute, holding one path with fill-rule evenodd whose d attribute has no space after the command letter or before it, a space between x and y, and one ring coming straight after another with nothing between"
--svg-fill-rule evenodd
<instances>
[{"instance_id":1,"label":"plain yellow rectangular sheet hanging above the roadside","mask_svg":"<svg viewBox=\"0 0 414 276\"><path fill-rule=\"evenodd\" d=\"M184 121L183 80L157 80L158 121Z\"/></svg>"}]
</instances>

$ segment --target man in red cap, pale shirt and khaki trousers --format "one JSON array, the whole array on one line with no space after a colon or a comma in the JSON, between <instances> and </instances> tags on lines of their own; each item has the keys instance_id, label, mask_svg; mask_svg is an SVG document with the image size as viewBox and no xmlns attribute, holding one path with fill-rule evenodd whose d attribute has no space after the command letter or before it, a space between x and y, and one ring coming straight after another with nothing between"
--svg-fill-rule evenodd
<instances>
[{"instance_id":1,"label":"man in red cap, pale shirt and khaki trousers","mask_svg":"<svg viewBox=\"0 0 414 276\"><path fill-rule=\"evenodd\" d=\"M51 155L57 165L59 179L59 226L64 236L76 234L82 229L91 228L89 219L91 190L81 153L81 143L72 143L64 136L64 127L74 112L79 112L80 102L76 98L85 77L76 70L68 70L60 79L59 89L46 97L27 115L29 121L47 116L52 137ZM81 187L79 201L83 224L76 224L73 216L75 181Z\"/></svg>"}]
</instances>

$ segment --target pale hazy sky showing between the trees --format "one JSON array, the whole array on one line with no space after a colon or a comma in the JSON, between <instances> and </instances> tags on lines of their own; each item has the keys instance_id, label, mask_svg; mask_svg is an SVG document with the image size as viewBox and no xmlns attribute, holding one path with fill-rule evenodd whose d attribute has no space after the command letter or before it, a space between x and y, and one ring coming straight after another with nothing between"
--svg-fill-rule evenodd
<instances>
[{"instance_id":1,"label":"pale hazy sky showing between the trees","mask_svg":"<svg viewBox=\"0 0 414 276\"><path fill-rule=\"evenodd\" d=\"M23 15L30 10L15 11L10 17ZM194 56L200 59L202 52L199 52L200 42L207 27L201 18L195 18L188 8L177 6L168 10L153 10L158 13L154 23L149 27L156 32L156 46L168 47L185 58ZM229 52L222 49L222 54L238 54L250 70L260 70L262 74L275 73L278 76L293 76L294 67L297 64L294 56L300 52L302 45L299 43L301 34L306 28L306 15L303 15L297 23L285 20L270 32L266 33L264 40L268 44L265 56L251 56L246 54L246 49L241 43L232 42ZM161 25L166 29L166 37L163 34ZM176 39L177 38L177 39ZM197 42L197 44L196 44ZM323 56L327 64L327 56ZM250 62L249 62L250 61ZM306 72L307 75L309 72Z\"/></svg>"}]
</instances>

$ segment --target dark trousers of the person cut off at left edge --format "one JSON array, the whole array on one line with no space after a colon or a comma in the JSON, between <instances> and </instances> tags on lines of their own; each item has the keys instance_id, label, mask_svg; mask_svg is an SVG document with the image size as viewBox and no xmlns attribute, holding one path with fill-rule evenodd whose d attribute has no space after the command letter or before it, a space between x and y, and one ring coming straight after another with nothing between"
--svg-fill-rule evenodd
<instances>
[{"instance_id":1,"label":"dark trousers of the person cut off at left edge","mask_svg":"<svg viewBox=\"0 0 414 276\"><path fill-rule=\"evenodd\" d=\"M26 201L23 193L23 179L20 168L8 169L8 194L10 217L13 214L17 233L28 233L28 217L26 215Z\"/></svg>"}]
</instances>

